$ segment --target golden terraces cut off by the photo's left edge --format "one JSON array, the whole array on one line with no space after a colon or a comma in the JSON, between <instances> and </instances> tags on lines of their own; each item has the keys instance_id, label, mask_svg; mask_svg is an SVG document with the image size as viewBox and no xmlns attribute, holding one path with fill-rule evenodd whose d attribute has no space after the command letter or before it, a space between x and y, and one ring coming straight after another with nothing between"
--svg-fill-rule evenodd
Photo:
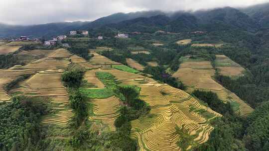
<instances>
[{"instance_id":1,"label":"golden terraces cut off by the photo's left edge","mask_svg":"<svg viewBox=\"0 0 269 151\"><path fill-rule=\"evenodd\" d=\"M4 90L4 85L21 75L33 74L31 70L0 70L0 101L9 101L11 96Z\"/></svg>"}]
</instances>

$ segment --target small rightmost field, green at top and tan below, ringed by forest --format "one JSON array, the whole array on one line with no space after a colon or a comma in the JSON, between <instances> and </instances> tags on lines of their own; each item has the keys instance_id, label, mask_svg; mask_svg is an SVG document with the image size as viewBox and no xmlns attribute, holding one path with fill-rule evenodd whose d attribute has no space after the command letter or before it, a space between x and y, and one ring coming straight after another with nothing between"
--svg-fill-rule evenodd
<instances>
[{"instance_id":1,"label":"small rightmost field, green at top and tan below, ringed by forest","mask_svg":"<svg viewBox=\"0 0 269 151\"><path fill-rule=\"evenodd\" d=\"M225 55L216 55L216 68L221 75L241 76L245 69Z\"/></svg>"}]
</instances>

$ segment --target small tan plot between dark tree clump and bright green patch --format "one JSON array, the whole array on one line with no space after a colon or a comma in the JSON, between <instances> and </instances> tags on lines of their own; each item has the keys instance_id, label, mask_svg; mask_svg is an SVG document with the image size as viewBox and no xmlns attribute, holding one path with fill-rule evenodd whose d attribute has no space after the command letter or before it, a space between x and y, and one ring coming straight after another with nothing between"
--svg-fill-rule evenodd
<instances>
[{"instance_id":1,"label":"small tan plot between dark tree clump and bright green patch","mask_svg":"<svg viewBox=\"0 0 269 151\"><path fill-rule=\"evenodd\" d=\"M88 80L89 83L94 84L96 87L104 88L105 85L98 79L96 72L98 72L98 70L87 71L84 75L84 79Z\"/></svg>"}]
</instances>

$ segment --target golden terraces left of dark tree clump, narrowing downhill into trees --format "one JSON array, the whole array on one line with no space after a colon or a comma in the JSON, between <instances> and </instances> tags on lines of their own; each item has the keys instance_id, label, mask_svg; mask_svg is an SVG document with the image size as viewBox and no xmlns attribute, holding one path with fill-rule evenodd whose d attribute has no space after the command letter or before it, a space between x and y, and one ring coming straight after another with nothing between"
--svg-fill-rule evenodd
<instances>
[{"instance_id":1,"label":"golden terraces left of dark tree clump, narrowing downhill into trees","mask_svg":"<svg viewBox=\"0 0 269 151\"><path fill-rule=\"evenodd\" d=\"M63 70L46 70L33 75L20 84L19 88L11 92L21 92L26 96L38 96L50 98L55 114L45 117L41 123L66 125L74 116L68 108L69 94L62 84L61 75Z\"/></svg>"}]
</instances>

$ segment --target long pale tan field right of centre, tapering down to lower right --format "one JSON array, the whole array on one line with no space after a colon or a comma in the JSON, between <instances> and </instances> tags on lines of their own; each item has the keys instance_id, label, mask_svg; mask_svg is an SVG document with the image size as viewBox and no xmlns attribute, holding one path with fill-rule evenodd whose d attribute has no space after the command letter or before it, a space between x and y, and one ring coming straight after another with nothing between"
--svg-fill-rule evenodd
<instances>
[{"instance_id":1,"label":"long pale tan field right of centre, tapering down to lower right","mask_svg":"<svg viewBox=\"0 0 269 151\"><path fill-rule=\"evenodd\" d=\"M236 102L239 104L239 109L235 110L237 114L250 114L253 109L236 96L236 94L216 82L212 78L214 74L215 70L211 66L210 62L186 60L180 65L178 71L173 74L173 77L179 78L183 83L185 83L188 86L188 92L192 92L195 89L215 92L221 100L225 102Z\"/></svg>"}]
</instances>

